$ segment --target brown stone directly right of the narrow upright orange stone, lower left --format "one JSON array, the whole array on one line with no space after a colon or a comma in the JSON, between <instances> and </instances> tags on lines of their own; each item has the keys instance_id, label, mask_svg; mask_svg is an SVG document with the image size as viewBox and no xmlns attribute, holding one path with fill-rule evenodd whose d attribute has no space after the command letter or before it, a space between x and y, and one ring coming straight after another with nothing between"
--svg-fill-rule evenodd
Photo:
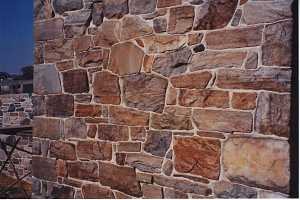
<instances>
[{"instance_id":1,"label":"brown stone directly right of the narrow upright orange stone, lower left","mask_svg":"<svg viewBox=\"0 0 300 200\"><path fill-rule=\"evenodd\" d=\"M97 181L99 169L96 162L68 162L68 174L72 178L81 180Z\"/></svg>"}]
</instances>

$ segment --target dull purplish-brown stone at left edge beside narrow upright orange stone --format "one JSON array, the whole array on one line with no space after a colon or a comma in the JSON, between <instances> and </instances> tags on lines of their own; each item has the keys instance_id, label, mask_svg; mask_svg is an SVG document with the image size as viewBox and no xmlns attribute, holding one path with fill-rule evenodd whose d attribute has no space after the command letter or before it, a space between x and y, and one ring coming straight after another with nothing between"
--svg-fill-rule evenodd
<instances>
[{"instance_id":1,"label":"dull purplish-brown stone at left edge beside narrow upright orange stone","mask_svg":"<svg viewBox=\"0 0 300 200\"><path fill-rule=\"evenodd\" d=\"M50 158L32 157L32 175L36 178L56 181L56 161Z\"/></svg>"}]
</instances>

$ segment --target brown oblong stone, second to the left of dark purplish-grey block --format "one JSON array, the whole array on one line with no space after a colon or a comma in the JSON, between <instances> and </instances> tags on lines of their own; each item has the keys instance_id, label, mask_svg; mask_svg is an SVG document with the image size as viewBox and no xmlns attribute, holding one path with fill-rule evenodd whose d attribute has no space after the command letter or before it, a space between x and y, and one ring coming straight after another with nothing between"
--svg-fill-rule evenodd
<instances>
[{"instance_id":1,"label":"brown oblong stone, second to the left of dark purplish-grey block","mask_svg":"<svg viewBox=\"0 0 300 200\"><path fill-rule=\"evenodd\" d=\"M128 127L110 124L100 124L98 126L98 138L109 141L127 141L129 139Z\"/></svg>"}]
</instances>

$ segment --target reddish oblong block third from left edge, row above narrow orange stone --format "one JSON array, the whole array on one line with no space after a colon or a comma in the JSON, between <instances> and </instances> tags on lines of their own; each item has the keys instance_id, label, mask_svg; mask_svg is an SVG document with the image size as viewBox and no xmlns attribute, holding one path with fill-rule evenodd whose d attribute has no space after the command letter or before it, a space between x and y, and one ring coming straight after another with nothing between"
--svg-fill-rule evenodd
<instances>
[{"instance_id":1,"label":"reddish oblong block third from left edge, row above narrow orange stone","mask_svg":"<svg viewBox=\"0 0 300 200\"><path fill-rule=\"evenodd\" d=\"M112 144L99 141L79 141L77 155L83 160L111 160Z\"/></svg>"}]
</instances>

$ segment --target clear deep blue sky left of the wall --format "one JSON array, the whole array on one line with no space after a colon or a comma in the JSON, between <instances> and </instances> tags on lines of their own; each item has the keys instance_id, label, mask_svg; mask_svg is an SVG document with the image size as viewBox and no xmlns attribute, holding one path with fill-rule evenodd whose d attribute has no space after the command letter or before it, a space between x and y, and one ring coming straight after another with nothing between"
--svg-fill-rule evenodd
<instances>
[{"instance_id":1,"label":"clear deep blue sky left of the wall","mask_svg":"<svg viewBox=\"0 0 300 200\"><path fill-rule=\"evenodd\" d=\"M18 73L33 64L32 0L7 0L0 5L0 71Z\"/></svg>"}]
</instances>

